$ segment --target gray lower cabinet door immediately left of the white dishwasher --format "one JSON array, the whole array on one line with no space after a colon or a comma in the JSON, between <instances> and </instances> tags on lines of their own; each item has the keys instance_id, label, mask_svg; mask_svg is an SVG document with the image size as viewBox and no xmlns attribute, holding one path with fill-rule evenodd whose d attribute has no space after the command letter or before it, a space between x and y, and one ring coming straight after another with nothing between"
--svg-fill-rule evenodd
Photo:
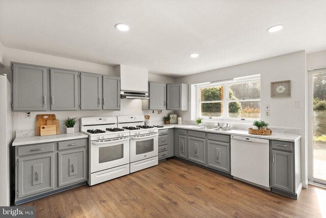
<instances>
[{"instance_id":1,"label":"gray lower cabinet door immediately left of the white dishwasher","mask_svg":"<svg viewBox=\"0 0 326 218\"><path fill-rule=\"evenodd\" d=\"M208 167L230 173L230 144L207 140Z\"/></svg>"}]
</instances>

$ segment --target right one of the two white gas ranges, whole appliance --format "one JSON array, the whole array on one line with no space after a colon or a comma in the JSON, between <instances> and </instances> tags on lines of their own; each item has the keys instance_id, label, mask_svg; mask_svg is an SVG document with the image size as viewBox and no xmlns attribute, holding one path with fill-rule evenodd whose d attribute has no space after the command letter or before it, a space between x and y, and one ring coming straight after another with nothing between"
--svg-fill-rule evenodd
<instances>
[{"instance_id":1,"label":"right one of the two white gas ranges, whole appliance","mask_svg":"<svg viewBox=\"0 0 326 218\"><path fill-rule=\"evenodd\" d=\"M119 116L118 127L130 131L130 173L158 164L158 129L143 115Z\"/></svg>"}]
</instances>

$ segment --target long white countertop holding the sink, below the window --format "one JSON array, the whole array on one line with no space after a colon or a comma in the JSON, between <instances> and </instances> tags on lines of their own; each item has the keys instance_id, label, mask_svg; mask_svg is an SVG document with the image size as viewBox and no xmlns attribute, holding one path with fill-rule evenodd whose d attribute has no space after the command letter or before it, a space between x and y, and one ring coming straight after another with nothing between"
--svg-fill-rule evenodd
<instances>
[{"instance_id":1,"label":"long white countertop holding the sink, below the window","mask_svg":"<svg viewBox=\"0 0 326 218\"><path fill-rule=\"evenodd\" d=\"M244 137L252 137L252 138L259 138L259 139L268 139L268 140L280 140L280 141L287 141L287 142L295 142L296 140L301 138L301 135L298 134L288 134L288 133L279 133L273 132L271 135L254 135L249 134L248 130L229 130L229 131L216 131L216 130L209 130L209 129L196 129L194 127L198 127L196 125L179 125L179 124L168 124L164 125L162 128L158 129L169 129L169 128L182 128L182 129L189 129L195 131L203 131L203 132L212 132L212 133L219 133L219 134L228 134L228 135L240 135Z\"/></svg>"}]
</instances>

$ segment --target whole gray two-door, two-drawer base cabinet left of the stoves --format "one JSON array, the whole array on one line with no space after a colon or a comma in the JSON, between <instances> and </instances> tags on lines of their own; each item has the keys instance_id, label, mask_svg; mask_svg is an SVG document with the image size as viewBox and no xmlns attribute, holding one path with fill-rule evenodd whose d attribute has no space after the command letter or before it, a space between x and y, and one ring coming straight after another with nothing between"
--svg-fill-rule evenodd
<instances>
[{"instance_id":1,"label":"whole gray two-door, two-drawer base cabinet left of the stoves","mask_svg":"<svg viewBox=\"0 0 326 218\"><path fill-rule=\"evenodd\" d=\"M87 181L88 139L15 147L15 204L32 201Z\"/></svg>"}]
</instances>

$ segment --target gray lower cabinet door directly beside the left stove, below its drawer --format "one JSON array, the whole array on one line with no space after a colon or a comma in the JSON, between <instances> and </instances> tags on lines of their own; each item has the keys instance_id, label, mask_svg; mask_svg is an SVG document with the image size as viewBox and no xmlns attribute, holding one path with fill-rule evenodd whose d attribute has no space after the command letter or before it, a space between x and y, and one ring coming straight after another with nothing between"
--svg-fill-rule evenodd
<instances>
[{"instance_id":1,"label":"gray lower cabinet door directly beside the left stove, below its drawer","mask_svg":"<svg viewBox=\"0 0 326 218\"><path fill-rule=\"evenodd\" d=\"M87 179L86 148L58 152L58 186Z\"/></svg>"}]
</instances>

